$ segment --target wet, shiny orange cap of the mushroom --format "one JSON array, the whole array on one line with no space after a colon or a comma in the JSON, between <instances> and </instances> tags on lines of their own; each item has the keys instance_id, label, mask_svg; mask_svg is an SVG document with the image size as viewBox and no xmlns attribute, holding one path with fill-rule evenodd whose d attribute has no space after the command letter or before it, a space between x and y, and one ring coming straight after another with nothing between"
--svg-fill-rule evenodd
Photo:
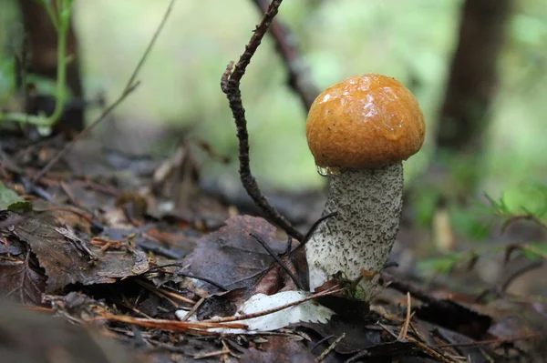
<instances>
[{"instance_id":1,"label":"wet, shiny orange cap of the mushroom","mask_svg":"<svg viewBox=\"0 0 547 363\"><path fill-rule=\"evenodd\" d=\"M322 167L375 168L406 160L426 133L418 101L388 76L352 76L315 98L308 146Z\"/></svg>"}]
</instances>

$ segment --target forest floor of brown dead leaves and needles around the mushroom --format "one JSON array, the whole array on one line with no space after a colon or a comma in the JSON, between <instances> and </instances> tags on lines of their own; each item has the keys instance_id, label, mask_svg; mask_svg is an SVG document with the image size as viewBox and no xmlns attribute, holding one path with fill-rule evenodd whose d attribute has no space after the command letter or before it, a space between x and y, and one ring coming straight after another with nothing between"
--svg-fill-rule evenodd
<instances>
[{"instance_id":1,"label":"forest floor of brown dead leaves and needles around the mushroom","mask_svg":"<svg viewBox=\"0 0 547 363\"><path fill-rule=\"evenodd\" d=\"M529 267L521 255L508 261L476 257L426 283L415 267L424 236L403 222L392 255L399 267L383 273L383 291L370 304L324 291L304 294L280 312L242 313L256 294L297 290L274 255L302 279L305 258L287 253L298 243L287 244L263 217L241 213L256 212L248 200L230 202L204 190L186 144L170 158L154 160L83 143L39 180L65 141L11 136L0 146L0 291L19 304L3 302L0 309L5 362L480 363L547 357L544 277L533 275L542 263ZM302 230L320 212L312 211L318 199L293 198L300 212L291 219ZM518 250L521 238L545 237L533 223L515 225L492 243ZM487 267L501 267L490 284L480 280L480 267L471 266L484 259ZM287 318L299 304L314 312L325 306L334 315L248 330L261 316Z\"/></svg>"}]
</instances>

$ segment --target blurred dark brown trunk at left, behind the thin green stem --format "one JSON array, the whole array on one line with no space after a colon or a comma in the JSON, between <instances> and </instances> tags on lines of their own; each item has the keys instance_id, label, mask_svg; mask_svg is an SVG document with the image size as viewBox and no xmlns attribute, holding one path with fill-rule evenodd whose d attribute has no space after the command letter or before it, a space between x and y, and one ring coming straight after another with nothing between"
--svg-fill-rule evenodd
<instances>
[{"instance_id":1,"label":"blurred dark brown trunk at left, behind the thin green stem","mask_svg":"<svg viewBox=\"0 0 547 363\"><path fill-rule=\"evenodd\" d=\"M25 26L26 44L30 51L27 70L38 76L57 79L57 31L45 7L34 0L18 0L18 5ZM79 70L77 36L73 25L70 25L67 35L67 55L72 57L67 64L67 86L73 97L81 99L83 87ZM84 108L71 109L59 120L59 124L56 130L65 134L81 131L84 127Z\"/></svg>"}]
</instances>

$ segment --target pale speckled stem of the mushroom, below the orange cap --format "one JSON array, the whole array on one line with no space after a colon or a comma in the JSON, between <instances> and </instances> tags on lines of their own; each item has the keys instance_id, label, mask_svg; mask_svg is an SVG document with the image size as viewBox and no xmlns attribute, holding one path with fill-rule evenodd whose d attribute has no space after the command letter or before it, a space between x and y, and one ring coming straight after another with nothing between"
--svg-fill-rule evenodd
<instances>
[{"instance_id":1,"label":"pale speckled stem of the mushroom, below the orange cap","mask_svg":"<svg viewBox=\"0 0 547 363\"><path fill-rule=\"evenodd\" d=\"M366 272L380 272L397 236L403 206L403 165L342 170L329 176L323 215L337 212L317 227L305 245L310 289L341 271L354 280ZM357 298L374 296L379 276L365 274Z\"/></svg>"}]
</instances>

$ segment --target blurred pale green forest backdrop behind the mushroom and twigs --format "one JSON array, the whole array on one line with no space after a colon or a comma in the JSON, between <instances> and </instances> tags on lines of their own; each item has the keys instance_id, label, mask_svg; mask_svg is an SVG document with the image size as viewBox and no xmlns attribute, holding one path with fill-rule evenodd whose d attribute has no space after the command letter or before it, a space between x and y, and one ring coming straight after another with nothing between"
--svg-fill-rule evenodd
<instances>
[{"instance_id":1,"label":"blurred pale green forest backdrop behind the mushroom and twigs","mask_svg":"<svg viewBox=\"0 0 547 363\"><path fill-rule=\"evenodd\" d=\"M0 5L4 54L22 25L14 1ZM168 0L76 0L75 26L88 96L119 95L144 52ZM509 204L530 201L525 187L547 176L547 3L516 1L498 62L480 190L503 191ZM356 74L395 76L413 87L428 120L429 139L406 163L423 172L432 153L439 107L458 41L457 0L285 0L278 17L297 37L320 89ZM260 13L249 0L178 0L139 79L142 85L115 112L126 125L194 126L222 154L237 139L220 77L243 52ZM0 95L13 89L11 59L0 57ZM305 111L286 85L286 69L266 37L243 77L253 173L263 187L321 187L304 136ZM237 158L203 167L237 178ZM451 166L448 166L451 167ZM454 166L465 168L464 166ZM531 197L532 196L532 197Z\"/></svg>"}]
</instances>

